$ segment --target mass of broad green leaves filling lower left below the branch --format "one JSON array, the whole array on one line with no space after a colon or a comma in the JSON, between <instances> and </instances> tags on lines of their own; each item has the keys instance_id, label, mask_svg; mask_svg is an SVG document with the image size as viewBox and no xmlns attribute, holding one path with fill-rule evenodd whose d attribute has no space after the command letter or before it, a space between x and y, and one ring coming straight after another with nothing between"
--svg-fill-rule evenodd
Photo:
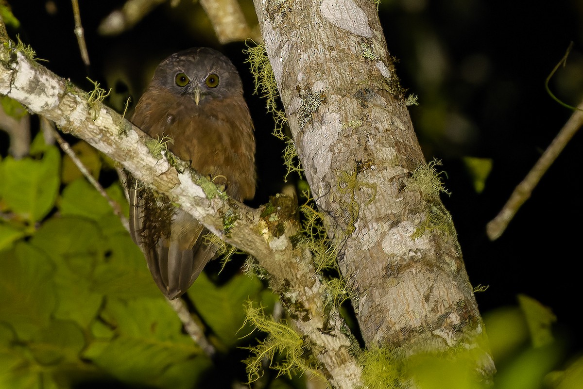
<instances>
[{"instance_id":1,"label":"mass of broad green leaves filling lower left below the branch","mask_svg":"<svg viewBox=\"0 0 583 389\"><path fill-rule=\"evenodd\" d=\"M85 144L73 149L96 178L108 168ZM193 387L210 359L182 332L107 201L67 158L39 135L29 157L0 160L0 388ZM120 184L106 192L127 214ZM219 286L201 275L189 295L223 352L249 344L237 335L245 300L274 303L243 274Z\"/></svg>"}]
</instances>

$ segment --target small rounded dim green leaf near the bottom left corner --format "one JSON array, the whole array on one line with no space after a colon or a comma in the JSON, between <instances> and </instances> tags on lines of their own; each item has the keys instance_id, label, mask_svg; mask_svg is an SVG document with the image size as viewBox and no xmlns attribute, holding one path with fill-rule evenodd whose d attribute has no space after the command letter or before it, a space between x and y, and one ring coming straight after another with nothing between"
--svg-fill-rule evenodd
<instances>
[{"instance_id":1,"label":"small rounded dim green leaf near the bottom left corner","mask_svg":"<svg viewBox=\"0 0 583 389\"><path fill-rule=\"evenodd\" d=\"M80 362L80 352L85 347L85 335L73 321L53 320L33 335L28 346L40 365L74 364Z\"/></svg>"}]
</instances>

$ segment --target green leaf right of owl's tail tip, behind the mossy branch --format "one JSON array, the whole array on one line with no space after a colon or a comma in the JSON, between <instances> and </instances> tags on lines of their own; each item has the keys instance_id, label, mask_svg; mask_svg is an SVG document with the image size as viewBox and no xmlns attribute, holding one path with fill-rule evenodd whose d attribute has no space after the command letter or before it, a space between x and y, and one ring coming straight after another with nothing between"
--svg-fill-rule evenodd
<instances>
[{"instance_id":1,"label":"green leaf right of owl's tail tip, behind the mossy branch","mask_svg":"<svg viewBox=\"0 0 583 389\"><path fill-rule=\"evenodd\" d=\"M245 321L244 302L258 300L263 284L257 277L246 274L236 275L226 284L217 287L201 273L188 289L188 296L194 302L202 318L226 345L234 345L238 338L252 331L241 329Z\"/></svg>"}]
</instances>

